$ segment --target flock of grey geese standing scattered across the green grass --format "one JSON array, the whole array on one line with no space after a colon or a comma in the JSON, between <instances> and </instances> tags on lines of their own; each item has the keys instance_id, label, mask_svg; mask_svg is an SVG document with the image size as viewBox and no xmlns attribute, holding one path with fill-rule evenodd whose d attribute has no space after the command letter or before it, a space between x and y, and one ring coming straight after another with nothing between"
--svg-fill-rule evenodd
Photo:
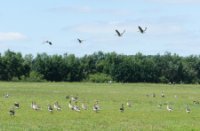
<instances>
[{"instance_id":1,"label":"flock of grey geese standing scattered across the green grass","mask_svg":"<svg viewBox=\"0 0 200 131\"><path fill-rule=\"evenodd\" d=\"M156 94L155 93L152 93L152 94L146 94L146 97L150 97L150 95L155 98L156 97ZM164 94L164 91L161 92L160 94L160 97L162 98L165 98L165 94ZM175 98L177 98L177 95L174 95ZM4 94L4 98L9 98L9 94L6 93ZM81 103L81 106L79 106L79 99L78 97L74 97L74 96L66 96L66 99L69 100L68 102L68 108L71 109L72 111L75 111L75 112L80 112L81 110L88 110L88 105L84 102ZM193 101L193 104L200 104L199 101ZM172 112L174 111L173 107L169 104L169 103L160 103L158 105L159 108L162 108L163 105L166 105L166 109L167 111L169 112ZM132 107L132 104L131 104L131 101L128 100L126 102L126 106L128 108L131 108ZM15 116L15 113L16 113L16 110L20 108L20 104L18 102L15 102L12 106L12 108L10 108L9 110L9 114L10 116ZM42 108L35 102L35 101L32 101L31 103L31 108L35 111L39 111L41 110ZM62 110L62 107L60 106L60 104L58 103L58 101L56 101L53 106L51 104L49 104L47 106L47 110L51 113L53 113L54 110L56 111L61 111ZM100 105L99 105L99 101L98 100L95 100L95 103L92 107L92 110L96 113L98 113L101 108L100 108ZM124 112L125 111L125 106L124 106L124 103L121 104L121 106L119 107L119 111L120 112ZM190 113L191 112L191 109L189 107L189 105L187 104L186 108L185 108L185 111L186 113Z\"/></svg>"}]
</instances>

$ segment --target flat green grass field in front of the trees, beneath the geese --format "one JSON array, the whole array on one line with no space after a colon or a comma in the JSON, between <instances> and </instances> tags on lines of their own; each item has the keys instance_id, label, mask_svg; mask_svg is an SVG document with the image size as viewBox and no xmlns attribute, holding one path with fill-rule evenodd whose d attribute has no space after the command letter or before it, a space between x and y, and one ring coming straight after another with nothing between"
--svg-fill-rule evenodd
<instances>
[{"instance_id":1,"label":"flat green grass field in front of the trees, beneath the geese","mask_svg":"<svg viewBox=\"0 0 200 131\"><path fill-rule=\"evenodd\" d=\"M160 96L162 91L164 98ZM9 97L4 98L7 92ZM152 97L153 93L156 97ZM193 104L194 100L200 100L200 85L0 82L0 94L0 130L200 130L200 104ZM78 96L89 109L72 111L67 95ZM99 113L92 110L95 100L99 100L102 109ZM127 100L132 107L126 106ZM32 101L42 109L31 109ZM55 101L60 103L62 111L48 112L47 105ZM9 109L14 102L19 102L20 108L12 117ZM122 103L123 113L119 111ZM167 111L167 103L174 111ZM187 104L191 108L189 114L185 111Z\"/></svg>"}]
</instances>

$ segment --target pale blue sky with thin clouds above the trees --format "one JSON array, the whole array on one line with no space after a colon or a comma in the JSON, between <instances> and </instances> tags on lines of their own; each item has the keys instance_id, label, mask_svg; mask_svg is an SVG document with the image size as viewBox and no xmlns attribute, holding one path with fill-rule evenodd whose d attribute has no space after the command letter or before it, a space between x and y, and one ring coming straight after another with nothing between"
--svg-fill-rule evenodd
<instances>
[{"instance_id":1,"label":"pale blue sky with thin clouds above the trees","mask_svg":"<svg viewBox=\"0 0 200 131\"><path fill-rule=\"evenodd\" d=\"M200 0L0 0L0 53L200 55ZM144 34L138 26L147 27ZM118 37L115 30L126 30ZM85 40L79 44L77 38ZM49 40L52 46L44 43Z\"/></svg>"}]
</instances>

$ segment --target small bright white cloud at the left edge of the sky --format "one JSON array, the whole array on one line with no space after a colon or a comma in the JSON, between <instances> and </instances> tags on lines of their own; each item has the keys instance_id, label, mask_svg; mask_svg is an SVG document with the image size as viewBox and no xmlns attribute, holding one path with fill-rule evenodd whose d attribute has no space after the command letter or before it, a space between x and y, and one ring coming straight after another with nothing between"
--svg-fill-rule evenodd
<instances>
[{"instance_id":1,"label":"small bright white cloud at the left edge of the sky","mask_svg":"<svg viewBox=\"0 0 200 131\"><path fill-rule=\"evenodd\" d=\"M27 37L19 32L0 32L0 41L22 41Z\"/></svg>"}]
</instances>

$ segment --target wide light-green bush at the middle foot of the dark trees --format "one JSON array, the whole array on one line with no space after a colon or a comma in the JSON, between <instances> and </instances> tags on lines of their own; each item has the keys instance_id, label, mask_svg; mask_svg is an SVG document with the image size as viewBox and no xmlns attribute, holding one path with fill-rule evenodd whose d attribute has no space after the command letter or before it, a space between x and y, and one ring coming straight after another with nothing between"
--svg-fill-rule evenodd
<instances>
[{"instance_id":1,"label":"wide light-green bush at the middle foot of the dark trees","mask_svg":"<svg viewBox=\"0 0 200 131\"><path fill-rule=\"evenodd\" d=\"M89 81L96 82L96 83L105 83L112 81L111 76L104 74L104 73L96 73L89 75Z\"/></svg>"}]
</instances>

